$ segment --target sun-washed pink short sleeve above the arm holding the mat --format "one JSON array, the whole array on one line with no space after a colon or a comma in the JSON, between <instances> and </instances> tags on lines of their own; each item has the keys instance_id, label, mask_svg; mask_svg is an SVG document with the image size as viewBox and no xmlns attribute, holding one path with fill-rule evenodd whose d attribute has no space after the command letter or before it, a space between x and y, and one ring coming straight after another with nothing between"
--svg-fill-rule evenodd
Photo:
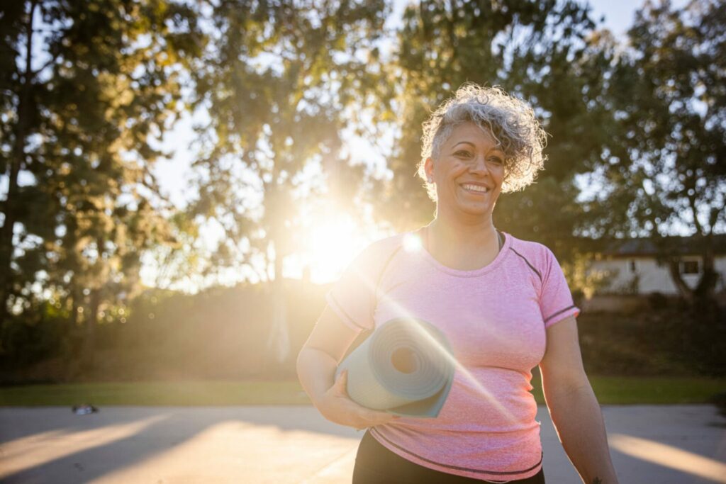
<instances>
[{"instance_id":1,"label":"sun-washed pink short sleeve above the arm holding the mat","mask_svg":"<svg viewBox=\"0 0 726 484\"><path fill-rule=\"evenodd\" d=\"M380 266L380 250L376 245L360 253L325 296L327 304L351 329L358 332L373 329L375 291L378 284L376 268Z\"/></svg>"}]
</instances>

